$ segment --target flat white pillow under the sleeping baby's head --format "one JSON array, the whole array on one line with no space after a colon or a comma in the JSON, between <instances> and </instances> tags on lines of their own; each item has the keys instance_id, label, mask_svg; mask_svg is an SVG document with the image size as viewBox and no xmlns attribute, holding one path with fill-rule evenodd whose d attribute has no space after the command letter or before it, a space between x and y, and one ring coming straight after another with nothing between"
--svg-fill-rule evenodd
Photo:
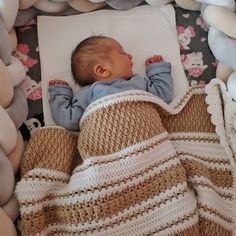
<instances>
[{"instance_id":1,"label":"flat white pillow under the sleeping baby's head","mask_svg":"<svg viewBox=\"0 0 236 236\"><path fill-rule=\"evenodd\" d=\"M45 125L54 125L48 104L48 81L62 79L74 85L70 57L84 38L106 35L117 39L133 56L133 71L145 75L144 61L161 54L172 65L174 97L188 89L180 59L172 5L161 8L142 5L128 11L99 10L72 16L39 16L38 39L41 61Z\"/></svg>"}]
</instances>

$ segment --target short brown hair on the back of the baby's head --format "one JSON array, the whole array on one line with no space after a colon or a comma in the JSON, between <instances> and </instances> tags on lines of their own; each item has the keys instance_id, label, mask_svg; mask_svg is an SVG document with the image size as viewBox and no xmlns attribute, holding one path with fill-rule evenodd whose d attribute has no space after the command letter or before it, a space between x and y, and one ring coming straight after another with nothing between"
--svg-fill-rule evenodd
<instances>
[{"instance_id":1,"label":"short brown hair on the back of the baby's head","mask_svg":"<svg viewBox=\"0 0 236 236\"><path fill-rule=\"evenodd\" d=\"M71 71L76 83L80 86L92 84L96 81L93 73L94 65L101 59L108 57L109 48L102 40L106 36L90 36L81 41L71 54Z\"/></svg>"}]
</instances>

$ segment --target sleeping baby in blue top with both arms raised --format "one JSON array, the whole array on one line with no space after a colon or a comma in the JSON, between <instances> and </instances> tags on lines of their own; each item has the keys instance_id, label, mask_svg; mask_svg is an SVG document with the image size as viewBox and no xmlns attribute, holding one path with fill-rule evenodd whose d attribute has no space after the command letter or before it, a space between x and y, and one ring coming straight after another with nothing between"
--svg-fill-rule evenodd
<instances>
[{"instance_id":1,"label":"sleeping baby in blue top with both arms raised","mask_svg":"<svg viewBox=\"0 0 236 236\"><path fill-rule=\"evenodd\" d=\"M150 92L169 103L173 98L170 63L154 55L146 59L145 65L148 78L133 74L132 56L115 39L106 36L84 39L71 56L73 77L82 88L73 95L67 82L49 81L49 106L54 121L78 131L79 121L90 103L132 89Z\"/></svg>"}]
</instances>

